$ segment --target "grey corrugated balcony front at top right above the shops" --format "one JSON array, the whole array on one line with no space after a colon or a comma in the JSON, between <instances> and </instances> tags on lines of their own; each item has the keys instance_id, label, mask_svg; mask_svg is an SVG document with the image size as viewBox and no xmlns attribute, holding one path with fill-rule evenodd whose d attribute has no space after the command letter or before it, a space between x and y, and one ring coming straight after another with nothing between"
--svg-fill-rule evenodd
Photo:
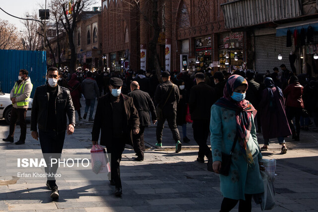
<instances>
[{"instance_id":1,"label":"grey corrugated balcony front at top right above the shops","mask_svg":"<svg viewBox=\"0 0 318 212\"><path fill-rule=\"evenodd\" d=\"M221 4L226 28L295 18L302 15L301 0L234 0Z\"/></svg>"}]
</instances>

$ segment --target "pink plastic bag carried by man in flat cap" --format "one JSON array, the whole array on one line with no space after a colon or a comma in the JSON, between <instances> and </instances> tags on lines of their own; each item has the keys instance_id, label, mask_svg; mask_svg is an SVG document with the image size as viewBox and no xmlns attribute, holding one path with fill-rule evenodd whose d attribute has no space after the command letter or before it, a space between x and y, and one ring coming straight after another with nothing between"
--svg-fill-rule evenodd
<instances>
[{"instance_id":1,"label":"pink plastic bag carried by man in flat cap","mask_svg":"<svg viewBox=\"0 0 318 212\"><path fill-rule=\"evenodd\" d=\"M108 157L100 145L93 145L90 149L91 169L95 174L110 172Z\"/></svg>"}]
</instances>

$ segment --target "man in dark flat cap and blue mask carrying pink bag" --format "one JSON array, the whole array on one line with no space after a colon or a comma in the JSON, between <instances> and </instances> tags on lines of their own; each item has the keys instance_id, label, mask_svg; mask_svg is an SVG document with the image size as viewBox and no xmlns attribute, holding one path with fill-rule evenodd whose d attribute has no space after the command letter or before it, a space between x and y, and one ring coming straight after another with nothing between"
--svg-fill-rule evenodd
<instances>
[{"instance_id":1,"label":"man in dark flat cap and blue mask carrying pink bag","mask_svg":"<svg viewBox=\"0 0 318 212\"><path fill-rule=\"evenodd\" d=\"M109 90L98 99L92 143L105 145L107 153L111 153L111 180L115 186L115 195L122 195L119 163L125 149L125 144L133 145L132 134L139 134L139 117L133 99L121 93L123 80L118 77L109 79Z\"/></svg>"}]
</instances>

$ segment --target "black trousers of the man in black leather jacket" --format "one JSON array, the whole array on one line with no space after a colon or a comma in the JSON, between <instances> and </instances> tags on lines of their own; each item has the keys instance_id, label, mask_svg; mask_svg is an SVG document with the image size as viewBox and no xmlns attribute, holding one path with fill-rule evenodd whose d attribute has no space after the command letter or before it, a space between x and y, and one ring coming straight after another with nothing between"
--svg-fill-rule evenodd
<instances>
[{"instance_id":1,"label":"black trousers of the man in black leather jacket","mask_svg":"<svg viewBox=\"0 0 318 212\"><path fill-rule=\"evenodd\" d=\"M56 131L39 131L39 140L41 145L41 150L47 167L45 167L45 173L53 173L56 174L59 164L53 163L51 165L51 159L60 159L61 153L65 140L65 131L57 133ZM56 186L55 177L47 178L49 185L51 188Z\"/></svg>"}]
</instances>

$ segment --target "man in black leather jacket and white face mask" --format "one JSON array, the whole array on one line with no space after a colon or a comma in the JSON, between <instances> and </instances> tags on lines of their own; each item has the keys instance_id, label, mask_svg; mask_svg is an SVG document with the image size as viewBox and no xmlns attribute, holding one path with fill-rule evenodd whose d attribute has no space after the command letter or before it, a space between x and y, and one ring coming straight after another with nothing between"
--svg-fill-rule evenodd
<instances>
[{"instance_id":1,"label":"man in black leather jacket and white face mask","mask_svg":"<svg viewBox=\"0 0 318 212\"><path fill-rule=\"evenodd\" d=\"M40 139L43 156L46 160L46 174L55 174L58 164L52 164L50 158L59 159L62 153L65 131L74 133L75 109L70 90L57 84L59 72L55 67L47 71L48 84L36 88L31 112L31 135ZM69 125L67 125L67 116ZM37 125L39 132L37 131ZM59 198L54 177L48 177L46 186L52 190L51 198Z\"/></svg>"}]
</instances>

